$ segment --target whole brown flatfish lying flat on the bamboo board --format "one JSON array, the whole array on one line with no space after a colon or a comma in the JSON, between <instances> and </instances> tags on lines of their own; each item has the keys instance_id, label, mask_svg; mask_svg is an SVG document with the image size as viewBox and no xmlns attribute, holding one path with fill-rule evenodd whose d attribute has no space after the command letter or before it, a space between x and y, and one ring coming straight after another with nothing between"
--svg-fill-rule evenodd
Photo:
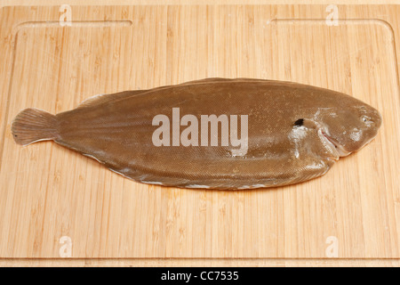
<instances>
[{"instance_id":1,"label":"whole brown flatfish lying flat on the bamboo board","mask_svg":"<svg viewBox=\"0 0 400 285\"><path fill-rule=\"evenodd\" d=\"M158 126L152 120L164 114L172 122L172 108L180 108L180 118L191 114L199 122L201 115L248 115L247 152L233 156L231 145L220 144L156 147L152 135ZM12 122L12 134L20 144L53 140L140 183L235 190L324 175L340 156L370 142L380 124L378 110L332 90L207 78L97 96L57 115L23 110Z\"/></svg>"}]
</instances>

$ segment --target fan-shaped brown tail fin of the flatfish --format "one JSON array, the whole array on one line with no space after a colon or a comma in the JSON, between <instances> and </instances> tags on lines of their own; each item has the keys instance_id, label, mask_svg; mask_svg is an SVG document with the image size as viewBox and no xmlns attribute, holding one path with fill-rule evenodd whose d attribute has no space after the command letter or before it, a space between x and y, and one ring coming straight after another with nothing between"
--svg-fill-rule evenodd
<instances>
[{"instance_id":1,"label":"fan-shaped brown tail fin of the flatfish","mask_svg":"<svg viewBox=\"0 0 400 285\"><path fill-rule=\"evenodd\" d=\"M28 145L33 142L54 140L59 136L58 120L44 110L28 108L12 121L12 137L18 144Z\"/></svg>"}]
</instances>

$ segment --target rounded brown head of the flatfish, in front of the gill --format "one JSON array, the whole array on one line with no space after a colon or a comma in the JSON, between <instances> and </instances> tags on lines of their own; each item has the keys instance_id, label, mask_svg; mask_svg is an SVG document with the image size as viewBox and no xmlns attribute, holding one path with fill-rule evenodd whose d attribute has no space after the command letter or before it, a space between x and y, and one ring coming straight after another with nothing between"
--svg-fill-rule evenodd
<instances>
[{"instance_id":1,"label":"rounded brown head of the flatfish, in front of the gill","mask_svg":"<svg viewBox=\"0 0 400 285\"><path fill-rule=\"evenodd\" d=\"M378 110L364 102L351 100L340 104L340 108L326 112L322 130L340 157L344 157L371 142L378 134L381 122Z\"/></svg>"}]
</instances>

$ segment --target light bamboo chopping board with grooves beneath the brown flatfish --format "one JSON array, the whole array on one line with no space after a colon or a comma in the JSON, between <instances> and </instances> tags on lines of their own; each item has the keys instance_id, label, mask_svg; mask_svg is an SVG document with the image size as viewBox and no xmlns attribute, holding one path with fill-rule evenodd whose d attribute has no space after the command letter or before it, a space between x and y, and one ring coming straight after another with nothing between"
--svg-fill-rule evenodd
<instances>
[{"instance_id":1,"label":"light bamboo chopping board with grooves beneath the brown flatfish","mask_svg":"<svg viewBox=\"0 0 400 285\"><path fill-rule=\"evenodd\" d=\"M61 26L59 6L3 8L0 258L400 258L399 13L339 6L329 26L324 5L73 6ZM383 125L323 177L252 191L134 183L55 143L12 140L24 108L204 77L330 88Z\"/></svg>"}]
</instances>

